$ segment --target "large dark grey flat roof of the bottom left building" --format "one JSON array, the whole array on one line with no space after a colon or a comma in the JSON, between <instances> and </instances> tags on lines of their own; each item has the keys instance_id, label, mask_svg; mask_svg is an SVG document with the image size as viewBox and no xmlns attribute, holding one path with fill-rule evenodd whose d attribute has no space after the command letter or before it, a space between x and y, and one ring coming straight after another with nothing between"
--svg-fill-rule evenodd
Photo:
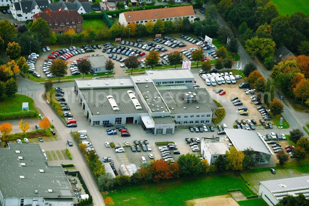
<instances>
[{"instance_id":1,"label":"large dark grey flat roof of the bottom left building","mask_svg":"<svg viewBox=\"0 0 309 206\"><path fill-rule=\"evenodd\" d=\"M0 149L0 175L3 197L75 197L63 168L48 165L40 144L9 143L9 149Z\"/></svg>"}]
</instances>

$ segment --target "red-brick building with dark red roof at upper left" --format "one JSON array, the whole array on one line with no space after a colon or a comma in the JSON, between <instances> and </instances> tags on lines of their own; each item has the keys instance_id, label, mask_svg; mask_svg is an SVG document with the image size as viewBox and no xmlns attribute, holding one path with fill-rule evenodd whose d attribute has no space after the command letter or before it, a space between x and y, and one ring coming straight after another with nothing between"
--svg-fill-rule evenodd
<instances>
[{"instance_id":1,"label":"red-brick building with dark red roof at upper left","mask_svg":"<svg viewBox=\"0 0 309 206\"><path fill-rule=\"evenodd\" d=\"M50 32L63 34L69 29L74 29L76 33L83 31L83 17L76 10L66 10L58 8L57 11L51 11L47 8L45 11L35 14L33 22L42 18L49 24Z\"/></svg>"}]
</instances>

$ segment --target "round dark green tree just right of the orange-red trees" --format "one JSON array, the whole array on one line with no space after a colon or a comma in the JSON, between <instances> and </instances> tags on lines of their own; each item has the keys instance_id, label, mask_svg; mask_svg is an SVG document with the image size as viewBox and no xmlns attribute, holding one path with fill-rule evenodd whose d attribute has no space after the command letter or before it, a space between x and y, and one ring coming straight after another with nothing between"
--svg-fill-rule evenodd
<instances>
[{"instance_id":1,"label":"round dark green tree just right of the orange-red trees","mask_svg":"<svg viewBox=\"0 0 309 206\"><path fill-rule=\"evenodd\" d=\"M183 176L198 176L202 172L202 162L195 154L182 154L179 156L177 162Z\"/></svg>"}]
</instances>

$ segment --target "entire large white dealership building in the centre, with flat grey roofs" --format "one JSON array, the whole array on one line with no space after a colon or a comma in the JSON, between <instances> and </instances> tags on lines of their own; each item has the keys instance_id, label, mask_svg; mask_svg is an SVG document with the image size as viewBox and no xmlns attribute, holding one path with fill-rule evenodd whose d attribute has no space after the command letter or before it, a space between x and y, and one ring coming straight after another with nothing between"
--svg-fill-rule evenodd
<instances>
[{"instance_id":1,"label":"entire large white dealership building in the centre, with flat grey roofs","mask_svg":"<svg viewBox=\"0 0 309 206\"><path fill-rule=\"evenodd\" d=\"M205 88L193 89L188 69L145 71L125 78L75 79L74 91L91 125L142 124L155 134L178 125L210 124L218 107Z\"/></svg>"}]
</instances>

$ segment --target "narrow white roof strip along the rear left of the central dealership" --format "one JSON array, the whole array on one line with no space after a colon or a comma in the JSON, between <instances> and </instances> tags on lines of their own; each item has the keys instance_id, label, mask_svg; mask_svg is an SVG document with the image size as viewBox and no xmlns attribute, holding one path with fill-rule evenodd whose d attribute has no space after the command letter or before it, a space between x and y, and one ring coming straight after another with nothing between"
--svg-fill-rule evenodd
<instances>
[{"instance_id":1,"label":"narrow white roof strip along the rear left of the central dealership","mask_svg":"<svg viewBox=\"0 0 309 206\"><path fill-rule=\"evenodd\" d=\"M130 77L126 78L104 78L104 79L75 79L80 90L99 88L133 87L134 83Z\"/></svg>"}]
</instances>

